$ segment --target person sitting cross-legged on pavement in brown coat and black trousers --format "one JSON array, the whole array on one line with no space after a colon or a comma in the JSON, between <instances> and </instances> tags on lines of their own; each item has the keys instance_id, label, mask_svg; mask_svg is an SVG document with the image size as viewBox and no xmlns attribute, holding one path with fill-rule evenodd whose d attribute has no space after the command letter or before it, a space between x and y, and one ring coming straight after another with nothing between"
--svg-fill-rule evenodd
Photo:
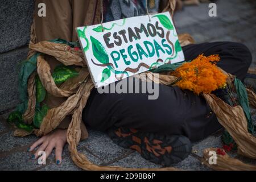
<instances>
[{"instance_id":1,"label":"person sitting cross-legged on pavement in brown coat and black trousers","mask_svg":"<svg viewBox=\"0 0 256 182\"><path fill-rule=\"evenodd\" d=\"M35 2L36 8L40 2L46 3L48 14L44 18L35 15L37 42L55 38L77 41L75 28L88 24L86 11L99 4L94 0L40 0ZM96 5L90 6L92 2ZM150 2L150 13L161 11L160 3L166 3L159 0ZM144 0L103 1L103 5L104 22L146 14ZM205 56L220 55L218 67L240 80L245 78L252 60L249 49L241 43L191 44L182 49L185 60L193 60L202 53ZM51 68L56 65L54 61L49 64ZM82 112L82 121L94 130L107 131L119 146L137 150L143 158L163 166L185 159L191 152L191 142L204 139L222 127L204 98L189 90L159 84L158 99L148 100L148 95L101 94L93 89ZM48 101L53 101L51 96L48 96ZM29 151L38 147L32 156L36 159L38 151L46 151L48 157L55 148L56 163L60 164L65 143L67 129L56 129L32 144Z\"/></svg>"}]
</instances>

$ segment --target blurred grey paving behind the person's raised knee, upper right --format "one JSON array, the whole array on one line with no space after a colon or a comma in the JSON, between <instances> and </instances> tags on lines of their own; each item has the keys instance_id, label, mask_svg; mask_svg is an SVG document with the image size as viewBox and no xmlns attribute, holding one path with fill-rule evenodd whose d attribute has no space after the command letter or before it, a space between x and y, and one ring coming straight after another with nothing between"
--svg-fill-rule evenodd
<instances>
[{"instance_id":1,"label":"blurred grey paving behind the person's raised knee, upper right","mask_svg":"<svg viewBox=\"0 0 256 182\"><path fill-rule=\"evenodd\" d=\"M256 66L256 1L217 0L217 16L208 15L208 0L186 0L174 14L178 33L189 33L196 43L231 41L245 44ZM201 3L200 3L201 2ZM202 3L205 2L205 3ZM208 2L208 3L207 3ZM188 5L189 4L189 5Z\"/></svg>"}]
</instances>

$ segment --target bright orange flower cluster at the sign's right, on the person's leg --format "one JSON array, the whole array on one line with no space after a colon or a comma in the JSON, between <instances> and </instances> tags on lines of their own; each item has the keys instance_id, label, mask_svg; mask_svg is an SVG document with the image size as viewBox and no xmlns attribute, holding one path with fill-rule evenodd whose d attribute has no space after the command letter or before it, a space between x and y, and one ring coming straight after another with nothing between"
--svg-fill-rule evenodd
<instances>
[{"instance_id":1,"label":"bright orange flower cluster at the sign's right, on the person's leg","mask_svg":"<svg viewBox=\"0 0 256 182\"><path fill-rule=\"evenodd\" d=\"M217 61L220 61L218 55L199 55L190 63L184 63L172 72L173 76L180 78L176 85L195 94L208 94L225 87L227 76L217 67Z\"/></svg>"}]
</instances>

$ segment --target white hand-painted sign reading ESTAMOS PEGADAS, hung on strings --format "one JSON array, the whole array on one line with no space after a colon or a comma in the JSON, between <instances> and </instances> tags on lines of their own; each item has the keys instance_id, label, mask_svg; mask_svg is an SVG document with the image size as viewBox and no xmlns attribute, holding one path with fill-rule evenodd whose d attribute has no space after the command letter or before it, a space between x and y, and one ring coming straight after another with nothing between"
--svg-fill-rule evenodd
<instances>
[{"instance_id":1,"label":"white hand-painted sign reading ESTAMOS PEGADAS, hung on strings","mask_svg":"<svg viewBox=\"0 0 256 182\"><path fill-rule=\"evenodd\" d=\"M162 64L184 61L168 12L76 30L96 88Z\"/></svg>"}]
</instances>

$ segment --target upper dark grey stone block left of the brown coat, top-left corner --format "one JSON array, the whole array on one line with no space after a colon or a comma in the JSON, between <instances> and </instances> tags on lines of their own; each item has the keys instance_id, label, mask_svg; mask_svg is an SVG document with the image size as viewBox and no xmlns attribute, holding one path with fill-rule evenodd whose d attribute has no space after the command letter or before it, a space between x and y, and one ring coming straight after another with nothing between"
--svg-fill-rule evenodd
<instances>
[{"instance_id":1,"label":"upper dark grey stone block left of the brown coat, top-left corner","mask_svg":"<svg viewBox=\"0 0 256 182\"><path fill-rule=\"evenodd\" d=\"M33 11L33 0L1 1L0 53L28 44Z\"/></svg>"}]
</instances>

